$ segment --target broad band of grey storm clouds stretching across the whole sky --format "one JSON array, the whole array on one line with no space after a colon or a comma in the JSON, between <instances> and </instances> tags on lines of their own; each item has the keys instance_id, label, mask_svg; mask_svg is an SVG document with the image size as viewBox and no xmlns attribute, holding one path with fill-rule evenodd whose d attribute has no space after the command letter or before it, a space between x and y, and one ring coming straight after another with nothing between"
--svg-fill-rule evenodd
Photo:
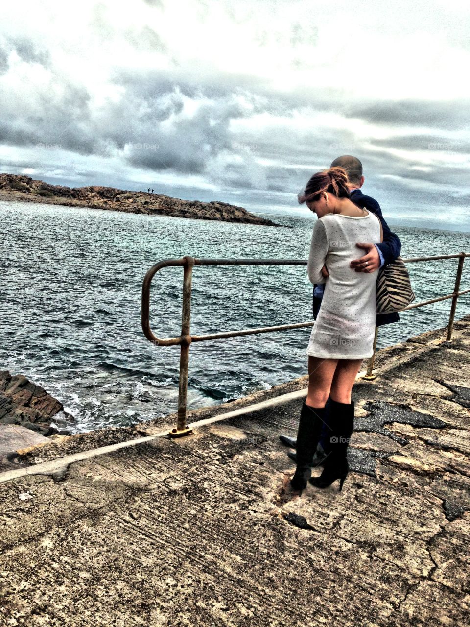
<instances>
[{"instance_id":1,"label":"broad band of grey storm clouds stretching across the whole sky","mask_svg":"<svg viewBox=\"0 0 470 627\"><path fill-rule=\"evenodd\" d=\"M147 0L147 4L161 3ZM103 16L100 19L103 21ZM124 36L137 50L167 54L159 35L147 25L137 31L128 29ZM301 41L302 27L294 24L291 45ZM55 70L49 53L26 38L0 41L0 74L8 71L12 50L24 62L48 68L51 78L50 83L31 91L23 85L21 92L0 99L0 141L4 144L48 142L83 155L115 157L118 153L130 166L154 172L197 174L209 182L238 187L265 185L266 189L295 193L310 174L328 167L341 154L357 155L366 179L384 189L399 186L400 181L459 186L467 172L448 162L447 152L467 154L468 143L452 142L446 131L467 126L470 101L364 104L351 102L341 89L305 85L282 92L267 79L227 74L191 61L182 67L169 59L166 70L113 70L105 79L123 88L122 98L117 102L103 98L99 107L92 107L88 91ZM347 120L359 118L384 127L387 135L394 129L399 135L387 139L359 137L341 128L341 122L336 127L334 118L329 127L323 121L321 127L312 128L309 116L313 119L319 112L335 113ZM233 130L232 122L256 114L264 115L259 127ZM273 125L266 124L269 117ZM285 118L286 123L275 123L279 118ZM305 129L301 122L290 124L302 119ZM396 128L399 126L429 127L429 133L417 128L415 135L404 134ZM410 155L397 155L391 149L407 150ZM412 157L413 152L424 150L437 163L428 164L423 158L425 162L420 164ZM258 163L260 159L263 164ZM381 174L392 178L380 179Z\"/></svg>"}]
</instances>

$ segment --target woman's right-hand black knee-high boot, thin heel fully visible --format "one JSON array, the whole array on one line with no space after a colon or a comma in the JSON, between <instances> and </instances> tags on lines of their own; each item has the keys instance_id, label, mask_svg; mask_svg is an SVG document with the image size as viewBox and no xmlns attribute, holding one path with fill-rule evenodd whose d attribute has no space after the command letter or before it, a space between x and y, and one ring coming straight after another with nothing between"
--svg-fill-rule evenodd
<instances>
[{"instance_id":1,"label":"woman's right-hand black knee-high boot, thin heel fully visible","mask_svg":"<svg viewBox=\"0 0 470 627\"><path fill-rule=\"evenodd\" d=\"M338 403L331 401L330 425L333 433L330 438L330 454L323 464L320 477L312 477L311 485L316 488L327 488L337 479L340 480L340 490L349 472L348 445L354 428L354 402Z\"/></svg>"}]
</instances>

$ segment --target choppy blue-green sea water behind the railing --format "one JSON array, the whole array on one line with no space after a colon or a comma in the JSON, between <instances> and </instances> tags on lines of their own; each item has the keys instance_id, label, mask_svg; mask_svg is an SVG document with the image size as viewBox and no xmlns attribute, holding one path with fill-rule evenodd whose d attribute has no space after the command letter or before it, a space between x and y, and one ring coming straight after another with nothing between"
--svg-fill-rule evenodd
<instances>
[{"instance_id":1,"label":"choppy blue-green sea water behind the railing","mask_svg":"<svg viewBox=\"0 0 470 627\"><path fill-rule=\"evenodd\" d=\"M259 211L279 228L102 209L2 202L0 368L42 385L75 416L80 433L177 408L179 347L151 344L140 327L145 273L157 261L195 257L305 259L315 217ZM268 216L266 216L268 217ZM469 251L469 234L390 220L402 256ZM448 225L447 225L448 226ZM462 228L462 231L467 230ZM358 249L358 256L362 253ZM462 287L470 287L470 260ZM409 264L416 301L451 293L457 260ZM150 324L180 334L182 268L152 283ZM191 331L208 334L312 320L305 266L212 266L193 272ZM451 300L400 314L378 347L447 324ZM470 314L459 299L456 319ZM191 345L188 406L239 398L306 374L310 328Z\"/></svg>"}]
</instances>

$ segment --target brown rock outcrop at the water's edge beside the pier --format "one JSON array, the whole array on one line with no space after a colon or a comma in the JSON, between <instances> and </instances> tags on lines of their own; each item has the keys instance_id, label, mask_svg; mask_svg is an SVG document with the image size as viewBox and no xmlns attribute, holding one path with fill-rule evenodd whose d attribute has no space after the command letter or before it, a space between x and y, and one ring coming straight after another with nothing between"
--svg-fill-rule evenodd
<instances>
[{"instance_id":1,"label":"brown rock outcrop at the water's edge beside the pier","mask_svg":"<svg viewBox=\"0 0 470 627\"><path fill-rule=\"evenodd\" d=\"M0 424L18 424L43 436L68 435L68 431L51 426L53 418L65 417L73 419L43 387L22 374L12 376L8 370L0 371Z\"/></svg>"}]
</instances>

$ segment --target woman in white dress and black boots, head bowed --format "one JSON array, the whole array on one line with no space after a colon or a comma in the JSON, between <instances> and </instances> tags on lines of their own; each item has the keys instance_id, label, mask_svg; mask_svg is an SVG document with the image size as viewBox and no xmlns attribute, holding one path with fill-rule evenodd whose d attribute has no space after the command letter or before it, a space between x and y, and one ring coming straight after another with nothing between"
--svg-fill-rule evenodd
<instances>
[{"instance_id":1,"label":"woman in white dress and black boots, head bowed","mask_svg":"<svg viewBox=\"0 0 470 627\"><path fill-rule=\"evenodd\" d=\"M318 216L307 271L311 283L325 283L325 294L306 350L308 394L297 434L297 468L291 479L295 490L303 490L310 478L310 460L320 440L328 396L330 451L320 477L310 478L310 483L326 488L339 479L342 489L349 470L347 448L354 420L352 386L362 360L373 352L379 270L356 272L350 261L357 257L358 241L382 241L382 224L349 196L345 170L332 167L313 174L298 198ZM326 279L323 265L328 270Z\"/></svg>"}]
</instances>

